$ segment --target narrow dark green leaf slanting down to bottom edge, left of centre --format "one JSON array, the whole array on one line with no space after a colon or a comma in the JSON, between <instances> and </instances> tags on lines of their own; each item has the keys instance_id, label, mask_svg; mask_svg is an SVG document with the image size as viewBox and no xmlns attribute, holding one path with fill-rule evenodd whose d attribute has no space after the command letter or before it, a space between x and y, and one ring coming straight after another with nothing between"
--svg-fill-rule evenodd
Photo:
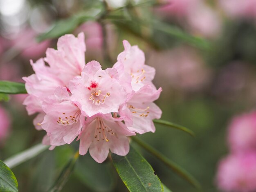
<instances>
[{"instance_id":1,"label":"narrow dark green leaf slanting down to bottom edge, left of centre","mask_svg":"<svg viewBox=\"0 0 256 192\"><path fill-rule=\"evenodd\" d=\"M69 179L71 173L74 170L74 166L76 164L76 160L79 157L79 152L76 152L76 154L70 159L70 161L67 163L67 165L63 168L61 171L61 174L58 176L56 181L54 182L54 185L49 192L59 192L62 190L65 183L67 183L67 180Z\"/></svg>"}]
</instances>

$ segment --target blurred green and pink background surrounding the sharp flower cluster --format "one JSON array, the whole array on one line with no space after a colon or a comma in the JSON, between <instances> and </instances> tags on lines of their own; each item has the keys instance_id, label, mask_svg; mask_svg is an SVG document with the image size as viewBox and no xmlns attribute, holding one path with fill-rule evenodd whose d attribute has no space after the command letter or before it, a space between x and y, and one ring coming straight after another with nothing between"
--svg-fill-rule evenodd
<instances>
[{"instance_id":1,"label":"blurred green and pink background surrounding the sharp flower cluster","mask_svg":"<svg viewBox=\"0 0 256 192\"><path fill-rule=\"evenodd\" d=\"M188 170L200 181L202 191L219 191L217 167L229 153L229 122L233 116L253 111L256 103L256 1L106 2L108 10L115 10L104 20L106 28L96 20L70 31L85 33L86 62L97 60L105 68L111 67L123 51L122 40L138 45L145 52L146 64L156 68L155 85L163 89L156 102L163 111L162 119L184 125L196 134L192 138L157 125L154 134L140 138ZM47 47L56 46L56 38L38 42L37 37L50 31L58 20L97 11L101 4L98 0L0 0L0 80L23 82L22 76L33 73L29 60L44 57ZM168 28L165 33L161 26L159 30L155 27L158 21L173 31ZM28 116L22 105L25 97L13 95L8 102L0 101L2 160L40 143L45 134L34 129L34 116ZM20 191L47 191L77 145L56 147L13 168ZM135 147L172 191L199 191ZM79 158L63 188L63 192L126 190L111 162L98 164L89 154Z\"/></svg>"}]
</instances>

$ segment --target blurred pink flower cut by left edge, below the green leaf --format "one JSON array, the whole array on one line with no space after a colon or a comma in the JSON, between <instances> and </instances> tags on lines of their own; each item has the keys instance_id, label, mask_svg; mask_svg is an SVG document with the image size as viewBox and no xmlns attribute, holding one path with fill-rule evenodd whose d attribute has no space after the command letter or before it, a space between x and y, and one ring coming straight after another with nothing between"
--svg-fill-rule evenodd
<instances>
[{"instance_id":1,"label":"blurred pink flower cut by left edge, below the green leaf","mask_svg":"<svg viewBox=\"0 0 256 192\"><path fill-rule=\"evenodd\" d=\"M0 144L7 137L10 128L10 119L7 112L0 105Z\"/></svg>"}]
</instances>

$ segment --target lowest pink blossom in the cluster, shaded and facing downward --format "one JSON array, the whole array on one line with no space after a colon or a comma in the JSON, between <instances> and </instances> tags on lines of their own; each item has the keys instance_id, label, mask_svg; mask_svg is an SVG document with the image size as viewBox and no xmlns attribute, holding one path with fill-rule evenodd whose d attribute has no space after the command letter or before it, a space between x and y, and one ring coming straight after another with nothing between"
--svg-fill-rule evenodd
<instances>
[{"instance_id":1,"label":"lowest pink blossom in the cluster, shaded and facing downward","mask_svg":"<svg viewBox=\"0 0 256 192\"><path fill-rule=\"evenodd\" d=\"M96 114L88 117L80 134L79 154L84 155L88 149L92 158L102 163L112 153L124 156L129 152L127 136L135 135L121 121L111 114Z\"/></svg>"}]
</instances>

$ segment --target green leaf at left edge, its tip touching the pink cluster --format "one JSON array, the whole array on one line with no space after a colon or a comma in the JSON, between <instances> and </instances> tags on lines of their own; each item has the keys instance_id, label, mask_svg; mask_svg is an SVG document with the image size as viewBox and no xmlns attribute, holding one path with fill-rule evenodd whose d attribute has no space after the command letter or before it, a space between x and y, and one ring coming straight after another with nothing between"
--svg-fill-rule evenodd
<instances>
[{"instance_id":1,"label":"green leaf at left edge, its tip touching the pink cluster","mask_svg":"<svg viewBox=\"0 0 256 192\"><path fill-rule=\"evenodd\" d=\"M16 83L11 81L0 81L0 93L4 94L26 94L24 83Z\"/></svg>"}]
</instances>

